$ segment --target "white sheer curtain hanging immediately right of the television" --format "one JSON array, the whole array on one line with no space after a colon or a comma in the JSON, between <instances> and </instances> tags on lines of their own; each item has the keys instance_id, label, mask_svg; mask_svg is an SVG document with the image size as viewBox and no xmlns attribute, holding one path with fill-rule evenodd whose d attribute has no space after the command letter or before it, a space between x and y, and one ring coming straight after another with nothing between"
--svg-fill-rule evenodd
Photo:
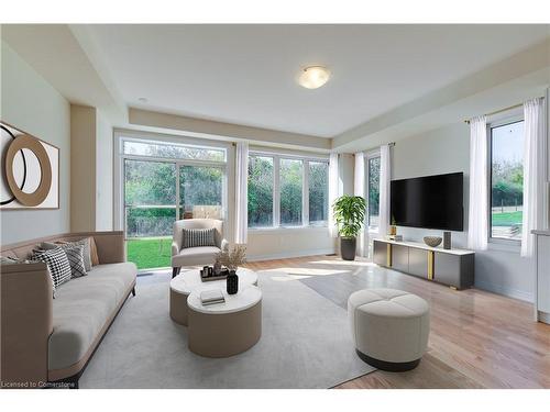
<instances>
[{"instance_id":1,"label":"white sheer curtain hanging immediately right of the television","mask_svg":"<svg viewBox=\"0 0 550 412\"><path fill-rule=\"evenodd\" d=\"M487 122L484 115L470 121L470 205L468 247L487 248Z\"/></svg>"}]
</instances>

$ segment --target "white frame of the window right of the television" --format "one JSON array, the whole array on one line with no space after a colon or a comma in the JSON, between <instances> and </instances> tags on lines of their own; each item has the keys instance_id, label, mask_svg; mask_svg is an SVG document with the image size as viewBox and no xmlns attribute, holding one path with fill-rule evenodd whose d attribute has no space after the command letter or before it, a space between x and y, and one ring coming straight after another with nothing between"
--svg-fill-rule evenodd
<instances>
[{"instance_id":1,"label":"white frame of the window right of the television","mask_svg":"<svg viewBox=\"0 0 550 412\"><path fill-rule=\"evenodd\" d=\"M487 243L514 249L521 247L520 238L493 237L493 129L519 122L525 122L520 108L499 113L487 121Z\"/></svg>"}]
</instances>

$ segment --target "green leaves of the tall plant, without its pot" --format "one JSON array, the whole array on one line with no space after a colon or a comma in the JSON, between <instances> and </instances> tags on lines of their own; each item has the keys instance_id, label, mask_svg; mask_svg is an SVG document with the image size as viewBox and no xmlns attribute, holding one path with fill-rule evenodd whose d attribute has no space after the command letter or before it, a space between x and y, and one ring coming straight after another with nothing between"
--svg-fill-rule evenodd
<instances>
[{"instance_id":1,"label":"green leaves of the tall plant, without its pot","mask_svg":"<svg viewBox=\"0 0 550 412\"><path fill-rule=\"evenodd\" d=\"M344 194L334 201L332 209L340 236L356 237L365 221L365 199Z\"/></svg>"}]
</instances>

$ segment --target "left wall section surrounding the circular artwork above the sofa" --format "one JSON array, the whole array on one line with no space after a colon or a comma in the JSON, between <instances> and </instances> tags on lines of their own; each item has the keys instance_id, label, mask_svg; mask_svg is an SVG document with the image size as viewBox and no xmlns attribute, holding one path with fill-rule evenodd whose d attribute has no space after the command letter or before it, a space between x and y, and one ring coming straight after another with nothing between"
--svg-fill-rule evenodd
<instances>
[{"instance_id":1,"label":"left wall section surrounding the circular artwork above the sofa","mask_svg":"<svg viewBox=\"0 0 550 412\"><path fill-rule=\"evenodd\" d=\"M2 121L59 148L59 209L1 211L1 242L69 231L69 103L4 42L1 45ZM2 165L3 167L3 165Z\"/></svg>"}]
</instances>

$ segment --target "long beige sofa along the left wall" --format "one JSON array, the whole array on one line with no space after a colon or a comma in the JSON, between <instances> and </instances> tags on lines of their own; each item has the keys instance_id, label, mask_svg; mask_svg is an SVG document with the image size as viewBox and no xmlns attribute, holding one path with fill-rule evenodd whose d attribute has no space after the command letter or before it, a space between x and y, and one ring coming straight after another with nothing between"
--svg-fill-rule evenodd
<instances>
[{"instance_id":1,"label":"long beige sofa along the left wall","mask_svg":"<svg viewBox=\"0 0 550 412\"><path fill-rule=\"evenodd\" d=\"M41 242L92 236L99 265L56 289L44 263L1 267L1 385L36 388L78 379L130 293L138 268L125 261L122 232L72 233L2 245L25 259Z\"/></svg>"}]
</instances>

